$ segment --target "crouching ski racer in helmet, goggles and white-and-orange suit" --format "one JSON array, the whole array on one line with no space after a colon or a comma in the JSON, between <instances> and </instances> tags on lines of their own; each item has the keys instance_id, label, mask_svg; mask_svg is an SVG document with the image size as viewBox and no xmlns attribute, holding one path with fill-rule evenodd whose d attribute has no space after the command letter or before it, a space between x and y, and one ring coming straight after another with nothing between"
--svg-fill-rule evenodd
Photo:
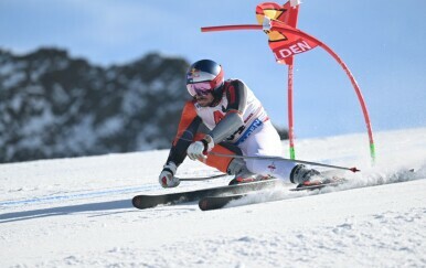
<instances>
[{"instance_id":1,"label":"crouching ski racer in helmet, goggles and white-and-orange suit","mask_svg":"<svg viewBox=\"0 0 426 268\"><path fill-rule=\"evenodd\" d=\"M187 89L193 99L183 107L178 133L159 176L161 186L179 185L174 174L187 156L235 175L230 184L270 176L306 185L321 180L317 170L290 161L209 156L216 152L278 157L281 141L253 92L239 79L224 81L223 68L216 62L193 63L187 73Z\"/></svg>"}]
</instances>

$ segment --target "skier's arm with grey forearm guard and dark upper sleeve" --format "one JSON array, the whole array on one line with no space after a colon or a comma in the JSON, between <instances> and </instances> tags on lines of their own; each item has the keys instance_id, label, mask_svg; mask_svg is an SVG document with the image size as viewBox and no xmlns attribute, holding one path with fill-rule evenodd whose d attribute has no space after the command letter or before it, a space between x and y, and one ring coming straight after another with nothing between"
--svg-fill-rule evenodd
<instances>
[{"instance_id":1,"label":"skier's arm with grey forearm guard and dark upper sleeve","mask_svg":"<svg viewBox=\"0 0 426 268\"><path fill-rule=\"evenodd\" d=\"M247 105L247 87L243 82L235 79L225 88L228 105L225 117L209 133L214 143L219 143L236 132L243 125L243 114Z\"/></svg>"}]
</instances>

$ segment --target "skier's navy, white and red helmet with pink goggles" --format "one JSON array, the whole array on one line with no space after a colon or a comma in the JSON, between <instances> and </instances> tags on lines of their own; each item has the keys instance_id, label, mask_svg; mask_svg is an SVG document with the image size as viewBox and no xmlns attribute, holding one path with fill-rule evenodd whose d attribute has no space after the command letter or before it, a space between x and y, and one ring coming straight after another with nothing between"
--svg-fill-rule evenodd
<instances>
[{"instance_id":1,"label":"skier's navy, white and red helmet with pink goggles","mask_svg":"<svg viewBox=\"0 0 426 268\"><path fill-rule=\"evenodd\" d=\"M187 73L187 88L191 96L217 93L224 83L223 68L211 60L193 63Z\"/></svg>"}]
</instances>

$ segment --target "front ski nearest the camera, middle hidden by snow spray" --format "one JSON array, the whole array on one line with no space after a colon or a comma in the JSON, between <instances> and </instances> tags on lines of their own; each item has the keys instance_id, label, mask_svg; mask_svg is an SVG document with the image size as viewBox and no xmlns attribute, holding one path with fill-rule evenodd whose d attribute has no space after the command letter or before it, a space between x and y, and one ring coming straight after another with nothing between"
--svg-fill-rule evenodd
<instances>
[{"instance_id":1,"label":"front ski nearest the camera, middle hidden by snow spray","mask_svg":"<svg viewBox=\"0 0 426 268\"><path fill-rule=\"evenodd\" d=\"M289 191L313 191L313 190L320 190L328 186L337 186L342 183L347 182L345 179L331 179L328 180L324 183L316 184L316 185L298 185L297 187L289 189ZM202 197L199 202L199 207L202 211L213 211L223 208L226 206L231 201L241 200L243 197L246 197L251 195L249 193L241 193L241 194L230 194L230 195L221 195L221 196L205 196ZM273 201L273 200L270 200Z\"/></svg>"}]
</instances>

